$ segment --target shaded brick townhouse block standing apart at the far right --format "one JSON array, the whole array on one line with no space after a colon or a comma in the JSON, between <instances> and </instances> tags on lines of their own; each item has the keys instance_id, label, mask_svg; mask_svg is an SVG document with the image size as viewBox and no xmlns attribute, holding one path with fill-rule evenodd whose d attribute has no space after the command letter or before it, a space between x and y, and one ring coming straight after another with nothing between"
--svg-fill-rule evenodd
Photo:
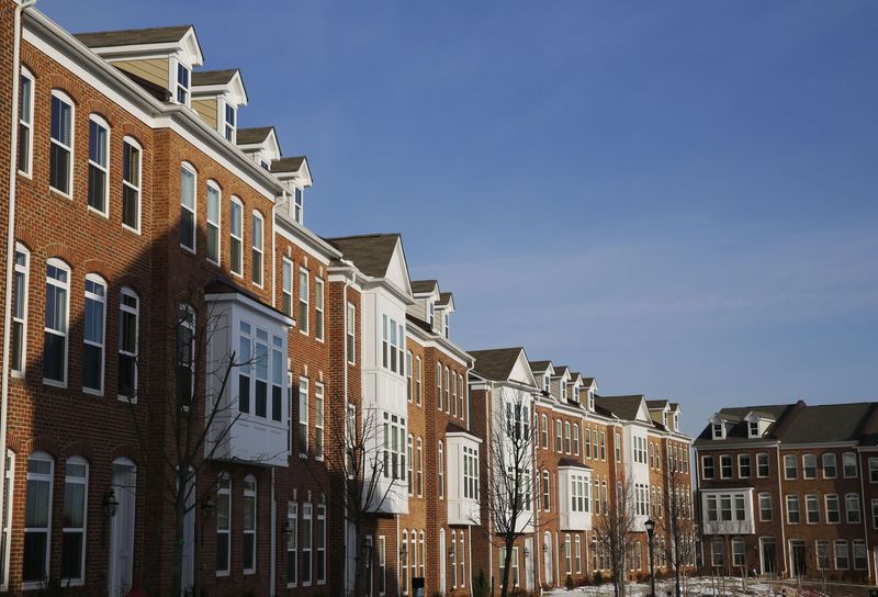
<instances>
[{"instance_id":1,"label":"shaded brick townhouse block standing apart at the far right","mask_svg":"<svg viewBox=\"0 0 878 597\"><path fill-rule=\"evenodd\" d=\"M878 403L723 408L695 451L707 565L875 582Z\"/></svg>"}]
</instances>

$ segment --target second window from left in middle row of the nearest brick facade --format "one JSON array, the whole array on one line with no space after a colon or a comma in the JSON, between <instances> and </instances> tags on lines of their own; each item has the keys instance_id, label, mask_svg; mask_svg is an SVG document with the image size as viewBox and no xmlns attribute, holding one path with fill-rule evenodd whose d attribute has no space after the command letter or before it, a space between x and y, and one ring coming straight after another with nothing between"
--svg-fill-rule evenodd
<instances>
[{"instance_id":1,"label":"second window from left in middle row of the nearest brick facade","mask_svg":"<svg viewBox=\"0 0 878 597\"><path fill-rule=\"evenodd\" d=\"M43 381L67 385L67 318L70 270L58 259L46 263L46 323L43 338Z\"/></svg>"}]
</instances>

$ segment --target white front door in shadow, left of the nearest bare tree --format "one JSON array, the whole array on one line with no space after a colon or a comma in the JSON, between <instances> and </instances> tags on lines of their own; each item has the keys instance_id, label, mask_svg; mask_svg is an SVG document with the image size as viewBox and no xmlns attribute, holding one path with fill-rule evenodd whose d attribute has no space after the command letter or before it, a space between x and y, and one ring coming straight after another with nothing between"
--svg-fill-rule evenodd
<instances>
[{"instance_id":1,"label":"white front door in shadow, left of the nearest bare tree","mask_svg":"<svg viewBox=\"0 0 878 597\"><path fill-rule=\"evenodd\" d=\"M137 473L132 461L119 459L113 462L112 491L119 506L110 521L106 589L110 597L124 597L132 588L134 567L134 504Z\"/></svg>"}]
</instances>

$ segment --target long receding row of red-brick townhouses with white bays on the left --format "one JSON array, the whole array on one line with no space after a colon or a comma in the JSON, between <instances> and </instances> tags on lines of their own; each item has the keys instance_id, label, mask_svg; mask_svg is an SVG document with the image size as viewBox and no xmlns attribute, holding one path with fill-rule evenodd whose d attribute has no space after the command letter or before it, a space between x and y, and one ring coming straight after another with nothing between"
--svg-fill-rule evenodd
<instances>
[{"instance_id":1,"label":"long receding row of red-brick townhouses with white bays on the left","mask_svg":"<svg viewBox=\"0 0 878 597\"><path fill-rule=\"evenodd\" d=\"M33 4L0 0L0 593L539 590L609 577L615 511L627 577L650 570L648 519L657 570L694 564L677 404L603 396L520 347L464 350L453 295L409 278L398 234L306 227L308 160L238 127L256 98L239 69L205 68L194 27L74 35ZM806 481L802 441L801 481L783 481L801 485L797 529L831 485L858 570L867 520L840 504L863 478L838 439L836 478L813 452L823 476ZM756 451L747 499L774 492ZM716 483L739 453L718 452ZM756 529L784 565L784 537L813 541L776 511Z\"/></svg>"}]
</instances>

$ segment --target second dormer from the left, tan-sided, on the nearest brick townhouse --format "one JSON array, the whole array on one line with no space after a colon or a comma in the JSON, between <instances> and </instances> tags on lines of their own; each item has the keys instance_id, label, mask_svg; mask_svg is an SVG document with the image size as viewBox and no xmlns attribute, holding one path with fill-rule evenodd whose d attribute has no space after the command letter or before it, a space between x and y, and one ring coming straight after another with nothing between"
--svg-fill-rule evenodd
<instances>
[{"instance_id":1,"label":"second dormer from the left, tan-sided, on the nearest brick townhouse","mask_svg":"<svg viewBox=\"0 0 878 597\"><path fill-rule=\"evenodd\" d=\"M211 128L235 143L238 108L247 105L240 70L196 70L192 74L192 108Z\"/></svg>"}]
</instances>

